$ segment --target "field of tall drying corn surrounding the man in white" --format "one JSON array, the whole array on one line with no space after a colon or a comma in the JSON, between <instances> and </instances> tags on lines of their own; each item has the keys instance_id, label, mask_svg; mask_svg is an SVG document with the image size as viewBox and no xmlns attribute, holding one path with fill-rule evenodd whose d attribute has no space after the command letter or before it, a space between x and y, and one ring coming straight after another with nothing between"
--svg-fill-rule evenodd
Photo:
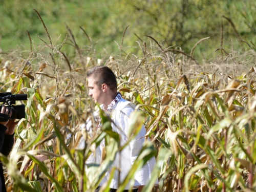
<instances>
[{"instance_id":1,"label":"field of tall drying corn surrounding the man in white","mask_svg":"<svg viewBox=\"0 0 256 192\"><path fill-rule=\"evenodd\" d=\"M59 42L51 39L37 14L48 39L38 36L42 43L35 45L28 32L29 50L0 53L1 92L28 94L27 101L20 101L27 115L15 130L12 152L9 157L0 154L8 191L94 191L98 187L123 147L111 129L111 119L103 113L100 132L91 137L81 130L97 108L88 96L86 79L87 70L97 65L114 71L118 91L140 110L131 117L129 140L144 123L146 137L152 141L145 142L118 191L153 156L153 177L143 191L256 190L256 47L252 42L246 42L248 51L239 53L231 41L229 50L216 50L219 57L199 63L194 50L208 37L184 53L146 35L148 42L137 41L141 55L134 55L124 47L126 28L117 43L119 52L96 53L82 28L88 45L80 45L68 26L68 35ZM63 46L70 46L75 54L67 56ZM81 137L86 140L83 149L78 147ZM103 138L104 159L85 169ZM36 155L48 159L41 162ZM108 191L108 185L101 191Z\"/></svg>"}]
</instances>

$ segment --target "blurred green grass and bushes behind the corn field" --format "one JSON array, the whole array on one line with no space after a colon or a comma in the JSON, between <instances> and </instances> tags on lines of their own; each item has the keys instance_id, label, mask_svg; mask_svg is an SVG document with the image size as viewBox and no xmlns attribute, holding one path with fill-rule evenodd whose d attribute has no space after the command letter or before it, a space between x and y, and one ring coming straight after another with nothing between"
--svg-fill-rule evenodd
<instances>
[{"instance_id":1,"label":"blurred green grass and bushes behind the corn field","mask_svg":"<svg viewBox=\"0 0 256 192\"><path fill-rule=\"evenodd\" d=\"M0 49L7 51L24 45L29 49L26 30L41 44L37 34L47 39L36 9L44 20L50 36L56 39L66 37L65 23L72 30L78 45L90 45L89 40L79 28L81 26L95 44L94 49L100 55L102 51L118 51L122 33L127 25L124 46L127 52L135 54L139 49L137 40L146 41L150 35L164 47L181 47L190 53L201 38L210 36L195 50L194 57L207 60L220 52L215 50L223 46L231 50L230 40L238 51L249 47L241 41L256 44L256 18L253 17L256 5L254 1L209 1L209 0L1 0L0 5ZM223 32L223 42L221 34ZM116 42L115 42L116 41ZM66 54L69 46L63 47ZM105 54L105 53L104 53Z\"/></svg>"}]
</instances>

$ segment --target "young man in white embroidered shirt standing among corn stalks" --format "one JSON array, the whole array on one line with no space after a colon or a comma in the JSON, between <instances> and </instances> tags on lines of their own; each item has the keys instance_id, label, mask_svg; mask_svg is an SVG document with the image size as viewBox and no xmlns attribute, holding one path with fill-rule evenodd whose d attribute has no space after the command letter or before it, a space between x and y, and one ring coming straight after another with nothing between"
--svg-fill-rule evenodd
<instances>
[{"instance_id":1,"label":"young man in white embroidered shirt standing among corn stalks","mask_svg":"<svg viewBox=\"0 0 256 192\"><path fill-rule=\"evenodd\" d=\"M127 133L129 130L129 116L135 110L135 105L126 101L122 98L121 94L117 92L117 81L114 73L105 66L97 66L91 69L88 74L88 87L89 96L94 99L95 103L101 104L101 109L109 115L113 122L113 131L121 135L121 145L127 141ZM98 111L96 111L97 114ZM99 117L98 117L99 118ZM116 126L115 126L116 125ZM92 130L90 122L87 122L86 129ZM120 129L117 129L117 126ZM100 122L98 129L100 127ZM123 181L126 175L129 173L132 164L136 160L139 152L142 148L143 142L145 140L145 128L142 127L140 133L132 140L127 147L117 154L115 160L113 161L113 166L119 167L121 169L120 175L118 173L114 174L114 179L110 184L110 191L116 191L118 188L118 178ZM81 142L84 143L84 142ZM80 145L81 146L81 145ZM100 163L102 152L104 151L105 142L102 140L99 147L96 149L96 157L91 155L89 162L87 163ZM119 161L121 159L121 161ZM121 165L119 164L121 162ZM155 158L148 161L143 168L141 168L135 175L134 191L141 191L143 185L147 180L150 180L152 169L155 165ZM116 170L118 172L118 170ZM106 176L109 176L110 171L105 174L105 178L100 183L100 186L107 180ZM156 182L158 184L158 181ZM128 191L129 185L125 187L125 191ZM99 188L97 189L99 190Z\"/></svg>"}]
</instances>

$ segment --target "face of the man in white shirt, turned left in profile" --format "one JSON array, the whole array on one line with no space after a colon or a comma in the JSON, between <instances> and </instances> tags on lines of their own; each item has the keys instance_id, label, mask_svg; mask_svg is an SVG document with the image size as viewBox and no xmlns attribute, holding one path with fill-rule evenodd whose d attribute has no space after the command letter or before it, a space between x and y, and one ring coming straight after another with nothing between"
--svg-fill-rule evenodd
<instances>
[{"instance_id":1,"label":"face of the man in white shirt, turned left in profile","mask_svg":"<svg viewBox=\"0 0 256 192\"><path fill-rule=\"evenodd\" d=\"M96 84L96 80L93 76L88 78L89 96L94 99L95 103L102 104L104 99L104 92L102 88Z\"/></svg>"}]
</instances>

